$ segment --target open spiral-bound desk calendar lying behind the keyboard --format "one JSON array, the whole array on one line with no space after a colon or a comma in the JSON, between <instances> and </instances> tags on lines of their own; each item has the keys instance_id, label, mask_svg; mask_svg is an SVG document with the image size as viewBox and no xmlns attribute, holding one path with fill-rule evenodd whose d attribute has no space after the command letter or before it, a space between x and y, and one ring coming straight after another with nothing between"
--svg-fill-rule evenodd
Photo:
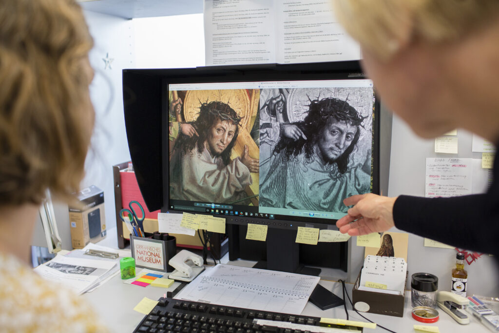
<instances>
[{"instance_id":1,"label":"open spiral-bound desk calendar lying behind the keyboard","mask_svg":"<svg viewBox=\"0 0 499 333\"><path fill-rule=\"evenodd\" d=\"M176 299L299 315L319 277L219 264L187 285Z\"/></svg>"}]
</instances>

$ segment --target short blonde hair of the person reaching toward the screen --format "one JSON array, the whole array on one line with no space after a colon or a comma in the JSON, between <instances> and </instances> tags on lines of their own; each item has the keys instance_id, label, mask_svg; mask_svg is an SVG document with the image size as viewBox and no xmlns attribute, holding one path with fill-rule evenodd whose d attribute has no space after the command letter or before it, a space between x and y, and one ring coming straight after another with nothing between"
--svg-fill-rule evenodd
<instances>
[{"instance_id":1,"label":"short blonde hair of the person reaching toward the screen","mask_svg":"<svg viewBox=\"0 0 499 333\"><path fill-rule=\"evenodd\" d=\"M361 46L387 60L413 40L462 38L499 16L498 0L332 0L338 21Z\"/></svg>"}]
</instances>

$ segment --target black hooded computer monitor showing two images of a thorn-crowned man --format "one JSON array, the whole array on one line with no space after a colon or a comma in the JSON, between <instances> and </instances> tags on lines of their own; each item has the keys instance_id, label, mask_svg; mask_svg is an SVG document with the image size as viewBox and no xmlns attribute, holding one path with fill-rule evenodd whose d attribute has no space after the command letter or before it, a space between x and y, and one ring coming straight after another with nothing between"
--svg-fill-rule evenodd
<instances>
[{"instance_id":1,"label":"black hooded computer monitor showing two images of a thorn-crowned man","mask_svg":"<svg viewBox=\"0 0 499 333\"><path fill-rule=\"evenodd\" d=\"M125 70L124 92L126 71L161 95L142 112L161 113L162 211L266 225L269 269L307 273L298 227L337 230L344 198L379 192L379 101L358 62Z\"/></svg>"}]
</instances>

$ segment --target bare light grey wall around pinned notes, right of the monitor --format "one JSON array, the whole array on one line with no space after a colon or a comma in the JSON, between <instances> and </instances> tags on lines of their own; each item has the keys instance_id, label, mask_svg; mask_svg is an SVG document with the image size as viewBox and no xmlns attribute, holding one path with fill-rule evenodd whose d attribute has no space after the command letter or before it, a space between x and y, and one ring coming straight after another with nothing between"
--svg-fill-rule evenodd
<instances>
[{"instance_id":1,"label":"bare light grey wall around pinned notes, right of the monitor","mask_svg":"<svg viewBox=\"0 0 499 333\"><path fill-rule=\"evenodd\" d=\"M457 157L482 158L482 153L471 151L472 135L458 129L459 154ZM390 183L388 196L401 194L425 196L426 158L451 156L434 152L435 140L423 140L398 117L393 117ZM487 222L486 222L487 223ZM395 232L403 232L393 228ZM463 230L466 232L466 230ZM439 278L439 290L451 288L451 270L455 267L456 251L425 247L424 238L409 234L407 266L409 276L417 272L431 273ZM498 267L493 257L483 255L468 271L468 295L499 295ZM410 282L408 284L410 289Z\"/></svg>"}]
</instances>

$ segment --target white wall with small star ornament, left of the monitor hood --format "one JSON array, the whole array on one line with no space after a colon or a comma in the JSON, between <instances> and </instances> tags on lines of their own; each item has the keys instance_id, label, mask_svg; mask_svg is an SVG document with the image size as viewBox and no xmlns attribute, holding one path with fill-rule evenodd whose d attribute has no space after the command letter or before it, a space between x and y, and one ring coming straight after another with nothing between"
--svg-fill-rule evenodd
<instances>
[{"instance_id":1,"label":"white wall with small star ornament, left of the monitor hood","mask_svg":"<svg viewBox=\"0 0 499 333\"><path fill-rule=\"evenodd\" d=\"M90 63L95 78L90 97L95 108L91 150L85 162L81 187L96 185L104 190L107 228L116 226L112 166L130 160L123 116L122 69L134 67L134 34L131 20L91 11L85 18L95 42ZM103 58L112 58L105 66Z\"/></svg>"}]
</instances>

